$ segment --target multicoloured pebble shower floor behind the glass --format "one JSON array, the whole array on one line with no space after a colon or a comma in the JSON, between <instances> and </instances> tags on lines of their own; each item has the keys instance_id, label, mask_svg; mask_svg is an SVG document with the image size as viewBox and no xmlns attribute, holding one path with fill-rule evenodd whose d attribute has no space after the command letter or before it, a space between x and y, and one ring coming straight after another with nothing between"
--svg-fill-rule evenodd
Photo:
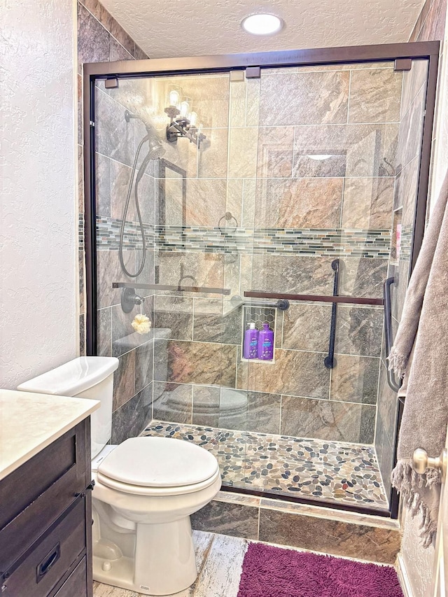
<instances>
[{"instance_id":1,"label":"multicoloured pebble shower floor behind the glass","mask_svg":"<svg viewBox=\"0 0 448 597\"><path fill-rule=\"evenodd\" d=\"M141 435L194 442L211 451L223 487L385 510L386 491L372 446L305 440L151 421Z\"/></svg>"}]
</instances>

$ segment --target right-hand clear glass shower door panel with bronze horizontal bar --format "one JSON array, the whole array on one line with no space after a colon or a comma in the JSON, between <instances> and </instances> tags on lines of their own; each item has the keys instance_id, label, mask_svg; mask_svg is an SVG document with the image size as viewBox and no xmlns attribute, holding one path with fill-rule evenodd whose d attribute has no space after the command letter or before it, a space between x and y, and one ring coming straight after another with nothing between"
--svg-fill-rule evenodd
<instances>
[{"instance_id":1,"label":"right-hand clear glass shower door panel with bronze horizontal bar","mask_svg":"<svg viewBox=\"0 0 448 597\"><path fill-rule=\"evenodd\" d=\"M253 120L230 131L230 152L232 139L244 139L239 175L253 239L241 257L243 320L274 332L272 360L239 352L250 489L388 508L397 407L381 387L383 284L405 227L402 171L418 169L425 82L424 61L405 73L393 62L262 69L246 81L257 90ZM415 150L403 163L409 139ZM400 250L398 267L409 268Z\"/></svg>"}]
</instances>

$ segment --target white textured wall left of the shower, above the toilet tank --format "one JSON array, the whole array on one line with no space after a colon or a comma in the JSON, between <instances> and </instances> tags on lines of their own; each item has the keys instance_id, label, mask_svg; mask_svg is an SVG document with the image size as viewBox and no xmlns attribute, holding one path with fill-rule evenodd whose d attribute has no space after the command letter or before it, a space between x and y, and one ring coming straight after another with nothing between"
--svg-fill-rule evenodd
<instances>
[{"instance_id":1,"label":"white textured wall left of the shower, above the toilet tank","mask_svg":"<svg viewBox=\"0 0 448 597\"><path fill-rule=\"evenodd\" d=\"M73 0L2 3L0 384L76 356Z\"/></svg>"}]
</instances>

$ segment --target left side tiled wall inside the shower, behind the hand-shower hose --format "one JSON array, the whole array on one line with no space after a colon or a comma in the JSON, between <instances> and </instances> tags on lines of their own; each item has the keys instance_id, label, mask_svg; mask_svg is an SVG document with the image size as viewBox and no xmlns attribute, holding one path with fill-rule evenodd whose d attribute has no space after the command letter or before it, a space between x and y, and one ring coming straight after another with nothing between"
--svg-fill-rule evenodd
<instances>
[{"instance_id":1,"label":"left side tiled wall inside the shower, behind the hand-shower hose","mask_svg":"<svg viewBox=\"0 0 448 597\"><path fill-rule=\"evenodd\" d=\"M137 94L132 95L136 101ZM153 245L148 244L143 270L137 277L127 276L120 266L118 241L111 246L111 235L119 234L123 209L132 176L132 164L141 139L146 135L138 120L125 120L125 110L132 108L127 88L120 82L117 90L106 90L103 83L96 88L96 179L97 179L97 351L102 356L116 356L120 365L113 382L113 432L111 441L122 442L129 435L138 435L142 421L151 419L153 400L153 331L139 335L132 328L134 317L146 314L153 321L153 290L137 289L144 304L135 305L130 313L121 307L123 289L114 289L114 282L154 282ZM139 163L146 153L141 153ZM139 204L145 227L154 225L154 182L149 174L139 183ZM135 178L134 178L135 180ZM130 273L136 273L144 256L138 237L137 212L132 200L127 211L123 261ZM109 223L104 232L101 223ZM134 235L133 235L134 233ZM137 233L137 235L136 235ZM124 431L125 430L125 431Z\"/></svg>"}]
</instances>

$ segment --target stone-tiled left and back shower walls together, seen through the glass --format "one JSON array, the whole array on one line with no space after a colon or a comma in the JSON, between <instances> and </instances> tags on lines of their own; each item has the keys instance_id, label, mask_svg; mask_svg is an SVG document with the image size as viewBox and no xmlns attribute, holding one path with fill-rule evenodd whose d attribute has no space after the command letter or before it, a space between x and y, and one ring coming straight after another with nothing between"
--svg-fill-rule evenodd
<instances>
[{"instance_id":1,"label":"stone-tiled left and back shower walls together, seen through the glass","mask_svg":"<svg viewBox=\"0 0 448 597\"><path fill-rule=\"evenodd\" d=\"M163 102L173 83L193 99L204 122L207 141L199 151L187 139L175 146L163 141ZM329 304L300 302L278 312L275 361L254 364L241 362L241 308L231 297L250 289L331 295L334 258L340 260L339 293L381 297L401 92L402 73L386 63L276 69L263 71L261 80L120 80L118 90L98 90L97 139L104 146L97 157L100 351L120 358L118 440L138 433L144 416L324 440L374 440L382 308L338 307L330 372L323 366ZM139 110L142 99L160 104L165 160L185 170L187 187L185 220L175 176L164 181L162 213L158 171L155 164L148 168L142 197L148 267L154 264L155 277L146 270L145 281L177 286L183 275L190 277L181 285L230 291L224 297L154 295L152 408L153 335L132 335L135 313L125 316L119 291L111 290L112 281L125 281L116 251L120 211L129 164L144 135L142 127L126 125L123 113L124 107ZM156 126L160 114L152 114ZM322 155L325 160L314 158ZM131 211L127 219L134 223L127 225L125 253L139 260L137 218Z\"/></svg>"}]
</instances>

